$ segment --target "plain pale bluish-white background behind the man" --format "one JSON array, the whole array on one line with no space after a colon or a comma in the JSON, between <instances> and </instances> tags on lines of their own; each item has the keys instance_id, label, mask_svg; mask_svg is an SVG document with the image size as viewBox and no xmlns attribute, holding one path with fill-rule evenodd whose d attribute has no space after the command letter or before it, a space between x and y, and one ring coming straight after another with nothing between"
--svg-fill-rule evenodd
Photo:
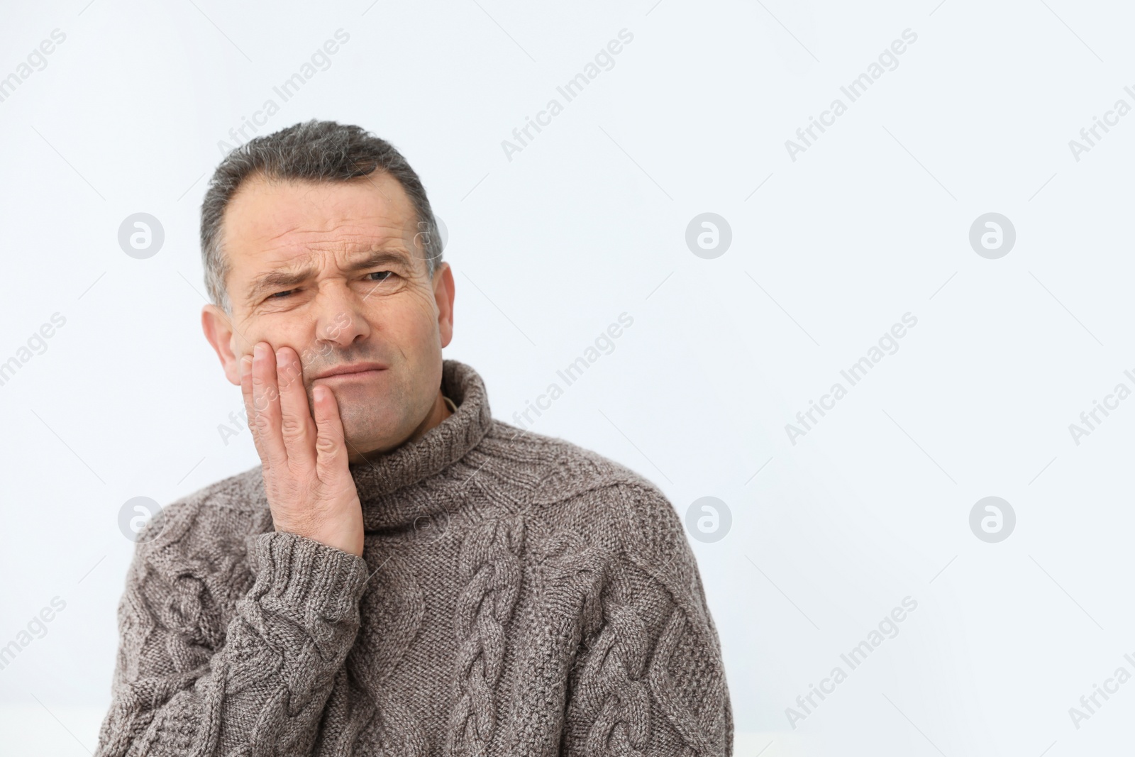
<instances>
[{"instance_id":1,"label":"plain pale bluish-white background behind the man","mask_svg":"<svg viewBox=\"0 0 1135 757\"><path fill-rule=\"evenodd\" d=\"M532 430L656 481L686 516L721 636L738 755L1084 755L1129 748L1135 666L1127 399L1068 424L1135 369L1130 9L976 2L7 2L0 76L0 361L66 326L0 386L0 645L66 609L0 670L0 751L92 750L133 545L123 503L168 504L257 464L199 323L199 205L218 142L325 40L351 36L261 129L311 117L390 140L449 232L447 358L494 414L544 392L621 312L633 326ZM501 146L616 39L633 41L522 152ZM851 82L917 41L858 101ZM784 142L848 111L792 161ZM278 98L276 98L278 101ZM160 219L148 260L117 244ZM732 229L705 260L688 222ZM999 260L970 224L1008 217ZM812 431L784 426L910 312L918 319ZM969 529L999 496L1014 533ZM903 597L918 603L808 718L785 708ZM844 666L844 670L848 670Z\"/></svg>"}]
</instances>

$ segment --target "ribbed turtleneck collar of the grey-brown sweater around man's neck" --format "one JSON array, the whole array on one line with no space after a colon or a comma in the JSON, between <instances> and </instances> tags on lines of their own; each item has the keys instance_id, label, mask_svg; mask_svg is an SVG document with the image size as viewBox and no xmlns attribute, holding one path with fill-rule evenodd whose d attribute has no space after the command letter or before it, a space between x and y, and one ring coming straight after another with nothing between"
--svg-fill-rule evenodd
<instances>
[{"instance_id":1,"label":"ribbed turtleneck collar of the grey-brown sweater around man's neck","mask_svg":"<svg viewBox=\"0 0 1135 757\"><path fill-rule=\"evenodd\" d=\"M352 463L363 527L368 531L398 527L419 528L445 519L454 503L445 496L404 491L442 473L476 447L493 423L488 393L481 377L456 360L442 361L442 394L457 410L421 438L371 462ZM396 496L398 493L403 496ZM447 507L448 505L448 507ZM443 512L445 511L445 512ZM439 519L435 519L439 515ZM426 520L422 520L426 519Z\"/></svg>"}]
</instances>

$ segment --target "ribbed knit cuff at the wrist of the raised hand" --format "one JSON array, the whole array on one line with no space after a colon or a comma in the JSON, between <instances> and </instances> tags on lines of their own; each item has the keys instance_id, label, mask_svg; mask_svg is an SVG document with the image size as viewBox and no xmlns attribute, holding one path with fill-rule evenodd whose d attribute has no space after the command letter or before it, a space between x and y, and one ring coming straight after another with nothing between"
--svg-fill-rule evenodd
<instances>
[{"instance_id":1,"label":"ribbed knit cuff at the wrist of the raised hand","mask_svg":"<svg viewBox=\"0 0 1135 757\"><path fill-rule=\"evenodd\" d=\"M286 531L261 533L253 542L252 598L330 622L358 614L368 578L362 557Z\"/></svg>"}]
</instances>

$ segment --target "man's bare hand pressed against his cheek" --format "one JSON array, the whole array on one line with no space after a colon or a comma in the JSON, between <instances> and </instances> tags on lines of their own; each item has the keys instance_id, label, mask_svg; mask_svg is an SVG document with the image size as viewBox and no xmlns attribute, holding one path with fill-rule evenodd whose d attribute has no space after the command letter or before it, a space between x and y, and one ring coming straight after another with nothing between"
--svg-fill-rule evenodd
<instances>
[{"instance_id":1,"label":"man's bare hand pressed against his cheek","mask_svg":"<svg viewBox=\"0 0 1135 757\"><path fill-rule=\"evenodd\" d=\"M253 355L241 359L241 392L276 530L361 556L362 505L335 395L316 386L312 413L295 350L260 342Z\"/></svg>"}]
</instances>

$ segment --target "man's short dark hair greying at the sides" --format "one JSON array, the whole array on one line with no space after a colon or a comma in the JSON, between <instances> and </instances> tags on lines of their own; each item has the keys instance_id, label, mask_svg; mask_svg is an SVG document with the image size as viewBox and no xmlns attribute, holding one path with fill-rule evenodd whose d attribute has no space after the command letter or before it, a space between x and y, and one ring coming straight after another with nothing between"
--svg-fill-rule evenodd
<instances>
[{"instance_id":1,"label":"man's short dark hair greying at the sides","mask_svg":"<svg viewBox=\"0 0 1135 757\"><path fill-rule=\"evenodd\" d=\"M254 137L221 160L201 203L201 258L205 287L213 304L232 314L225 281L229 266L221 249L221 221L229 200L245 179L348 182L385 171L402 185L413 203L430 278L442 262L442 236L418 174L394 145L359 126L309 120Z\"/></svg>"}]
</instances>

